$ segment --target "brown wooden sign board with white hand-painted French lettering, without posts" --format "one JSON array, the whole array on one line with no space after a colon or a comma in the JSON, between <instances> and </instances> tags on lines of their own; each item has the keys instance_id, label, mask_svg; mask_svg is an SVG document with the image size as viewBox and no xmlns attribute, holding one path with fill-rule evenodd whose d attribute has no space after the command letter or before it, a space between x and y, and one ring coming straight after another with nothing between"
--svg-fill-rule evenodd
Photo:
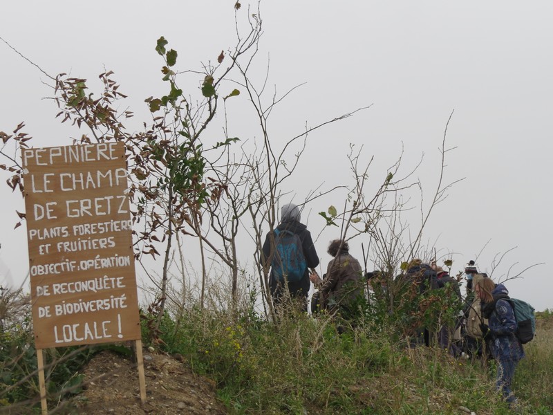
<instances>
[{"instance_id":1,"label":"brown wooden sign board with white hand-painted French lettering, without posts","mask_svg":"<svg viewBox=\"0 0 553 415\"><path fill-rule=\"evenodd\" d=\"M21 156L35 347L140 340L124 145Z\"/></svg>"}]
</instances>

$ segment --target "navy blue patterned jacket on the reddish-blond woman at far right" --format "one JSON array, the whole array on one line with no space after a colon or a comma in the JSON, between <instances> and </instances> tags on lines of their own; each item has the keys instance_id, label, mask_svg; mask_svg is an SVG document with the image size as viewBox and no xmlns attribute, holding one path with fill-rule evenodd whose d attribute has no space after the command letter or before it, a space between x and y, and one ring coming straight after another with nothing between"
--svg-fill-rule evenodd
<instances>
[{"instance_id":1,"label":"navy blue patterned jacket on the reddish-blond woman at far right","mask_svg":"<svg viewBox=\"0 0 553 415\"><path fill-rule=\"evenodd\" d=\"M518 362L524 355L523 345L516 338L516 319L511 304L507 301L509 291L503 284L498 284L491 291L493 302L482 302L482 316L488 319L491 331L491 353L497 360L514 360Z\"/></svg>"}]
</instances>

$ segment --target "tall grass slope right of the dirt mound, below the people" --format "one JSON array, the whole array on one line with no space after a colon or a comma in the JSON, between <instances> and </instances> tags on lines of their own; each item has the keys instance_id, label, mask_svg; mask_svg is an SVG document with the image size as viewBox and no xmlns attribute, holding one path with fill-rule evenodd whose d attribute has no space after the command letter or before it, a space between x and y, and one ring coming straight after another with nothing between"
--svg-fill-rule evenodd
<instances>
[{"instance_id":1,"label":"tall grass slope right of the dirt mound, below the people","mask_svg":"<svg viewBox=\"0 0 553 415\"><path fill-rule=\"evenodd\" d=\"M178 330L166 320L167 351L214 378L230 414L459 414L460 407L512 413L496 392L494 362L406 347L371 322L339 334L335 319L324 313L315 318L290 309L277 324L251 311L186 313ZM543 332L526 347L514 382L517 413L551 413L548 344Z\"/></svg>"}]
</instances>

